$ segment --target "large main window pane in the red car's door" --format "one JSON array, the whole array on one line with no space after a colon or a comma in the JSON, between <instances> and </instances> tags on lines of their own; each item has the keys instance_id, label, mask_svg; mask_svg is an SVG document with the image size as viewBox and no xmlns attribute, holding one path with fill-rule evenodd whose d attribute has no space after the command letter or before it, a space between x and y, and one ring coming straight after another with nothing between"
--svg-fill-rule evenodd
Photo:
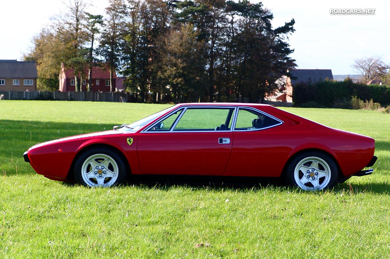
<instances>
[{"instance_id":1,"label":"large main window pane in the red car's door","mask_svg":"<svg viewBox=\"0 0 390 259\"><path fill-rule=\"evenodd\" d=\"M234 108L187 108L173 131L230 130Z\"/></svg>"}]
</instances>

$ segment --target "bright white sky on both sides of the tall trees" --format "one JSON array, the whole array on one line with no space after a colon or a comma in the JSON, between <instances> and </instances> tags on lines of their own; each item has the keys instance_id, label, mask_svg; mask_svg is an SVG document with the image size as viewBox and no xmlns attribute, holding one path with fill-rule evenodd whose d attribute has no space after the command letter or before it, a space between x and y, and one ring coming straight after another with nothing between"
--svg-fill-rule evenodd
<instances>
[{"instance_id":1,"label":"bright white sky on both sides of the tall trees","mask_svg":"<svg viewBox=\"0 0 390 259\"><path fill-rule=\"evenodd\" d=\"M68 1L68 0L65 0ZM89 12L103 14L107 0L93 0ZM258 2L253 1L253 2ZM273 26L295 19L289 36L298 68L332 69L333 75L356 74L354 59L381 56L390 63L390 1L384 0L263 0L274 15ZM330 14L329 9L376 9L374 15ZM2 0L0 59L21 59L32 37L64 9L62 0Z\"/></svg>"}]
</instances>

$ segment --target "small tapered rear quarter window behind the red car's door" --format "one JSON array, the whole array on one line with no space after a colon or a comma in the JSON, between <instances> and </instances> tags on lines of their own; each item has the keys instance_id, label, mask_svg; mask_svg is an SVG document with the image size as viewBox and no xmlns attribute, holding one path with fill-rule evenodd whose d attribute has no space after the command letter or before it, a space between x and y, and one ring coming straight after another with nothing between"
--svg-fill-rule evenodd
<instances>
[{"instance_id":1,"label":"small tapered rear quarter window behind the red car's door","mask_svg":"<svg viewBox=\"0 0 390 259\"><path fill-rule=\"evenodd\" d=\"M282 122L254 110L239 109L234 130L263 129Z\"/></svg>"}]
</instances>

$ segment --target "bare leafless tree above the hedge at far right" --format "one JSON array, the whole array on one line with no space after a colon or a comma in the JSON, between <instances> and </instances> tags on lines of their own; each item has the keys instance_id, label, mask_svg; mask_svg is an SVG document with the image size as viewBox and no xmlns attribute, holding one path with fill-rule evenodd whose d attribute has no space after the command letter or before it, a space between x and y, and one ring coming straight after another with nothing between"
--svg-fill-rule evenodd
<instances>
[{"instance_id":1,"label":"bare leafless tree above the hedge at far right","mask_svg":"<svg viewBox=\"0 0 390 259\"><path fill-rule=\"evenodd\" d=\"M355 63L351 66L363 75L366 83L373 79L379 80L386 75L390 68L378 56L355 59Z\"/></svg>"}]
</instances>

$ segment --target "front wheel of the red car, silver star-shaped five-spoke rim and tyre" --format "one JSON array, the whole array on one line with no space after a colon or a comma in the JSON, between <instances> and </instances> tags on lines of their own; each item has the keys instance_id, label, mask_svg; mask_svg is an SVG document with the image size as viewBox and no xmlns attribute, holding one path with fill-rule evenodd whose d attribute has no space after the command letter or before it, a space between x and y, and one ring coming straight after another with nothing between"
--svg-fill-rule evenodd
<instances>
[{"instance_id":1,"label":"front wheel of the red car, silver star-shaped five-spoke rim and tyre","mask_svg":"<svg viewBox=\"0 0 390 259\"><path fill-rule=\"evenodd\" d=\"M121 156L111 149L90 149L74 164L74 179L84 186L115 186L126 180L126 166Z\"/></svg>"}]
</instances>

